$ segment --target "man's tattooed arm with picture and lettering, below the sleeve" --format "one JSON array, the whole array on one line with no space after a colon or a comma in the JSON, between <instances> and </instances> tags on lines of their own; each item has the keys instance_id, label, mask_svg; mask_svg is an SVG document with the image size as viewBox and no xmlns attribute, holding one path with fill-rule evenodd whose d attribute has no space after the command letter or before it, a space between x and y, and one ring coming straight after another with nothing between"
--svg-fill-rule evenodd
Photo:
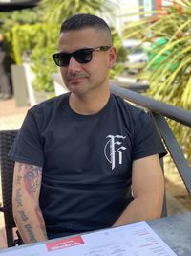
<instances>
[{"instance_id":1,"label":"man's tattooed arm with picture and lettering, below the sleeve","mask_svg":"<svg viewBox=\"0 0 191 256\"><path fill-rule=\"evenodd\" d=\"M47 240L45 222L39 207L41 179L41 167L15 163L12 211L25 244Z\"/></svg>"}]
</instances>

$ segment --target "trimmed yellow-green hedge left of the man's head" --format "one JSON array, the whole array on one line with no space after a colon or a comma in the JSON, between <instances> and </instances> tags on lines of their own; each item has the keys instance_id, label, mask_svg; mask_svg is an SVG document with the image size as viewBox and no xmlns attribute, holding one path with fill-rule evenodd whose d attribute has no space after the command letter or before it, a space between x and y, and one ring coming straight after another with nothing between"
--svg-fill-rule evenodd
<instances>
[{"instance_id":1,"label":"trimmed yellow-green hedge left of the man's head","mask_svg":"<svg viewBox=\"0 0 191 256\"><path fill-rule=\"evenodd\" d=\"M53 92L52 74L56 67L52 54L57 51L58 31L58 25L16 24L8 35L14 62L21 64L27 60L32 63L35 74L32 85L37 91Z\"/></svg>"}]
</instances>

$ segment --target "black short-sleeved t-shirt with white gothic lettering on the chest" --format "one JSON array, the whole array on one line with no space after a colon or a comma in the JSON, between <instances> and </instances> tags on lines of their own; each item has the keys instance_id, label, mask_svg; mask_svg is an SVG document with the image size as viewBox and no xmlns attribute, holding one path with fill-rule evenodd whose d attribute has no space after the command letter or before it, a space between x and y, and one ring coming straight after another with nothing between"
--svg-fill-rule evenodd
<instances>
[{"instance_id":1,"label":"black short-sleeved t-shirt with white gothic lettering on the chest","mask_svg":"<svg viewBox=\"0 0 191 256\"><path fill-rule=\"evenodd\" d=\"M132 200L133 161L156 153L165 150L143 110L111 94L80 115L65 94L28 111L10 157L43 167L40 207L54 238L111 226Z\"/></svg>"}]
</instances>

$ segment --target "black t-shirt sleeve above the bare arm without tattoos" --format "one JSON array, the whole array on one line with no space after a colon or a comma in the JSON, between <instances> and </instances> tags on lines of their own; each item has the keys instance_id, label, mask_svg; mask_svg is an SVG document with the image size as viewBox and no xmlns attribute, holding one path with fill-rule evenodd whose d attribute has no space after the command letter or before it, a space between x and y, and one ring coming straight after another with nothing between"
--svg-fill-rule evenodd
<instances>
[{"instance_id":1,"label":"black t-shirt sleeve above the bare arm without tattoos","mask_svg":"<svg viewBox=\"0 0 191 256\"><path fill-rule=\"evenodd\" d=\"M141 111L134 136L133 160L153 154L159 154L161 158L166 154L166 150L153 120Z\"/></svg>"}]
</instances>

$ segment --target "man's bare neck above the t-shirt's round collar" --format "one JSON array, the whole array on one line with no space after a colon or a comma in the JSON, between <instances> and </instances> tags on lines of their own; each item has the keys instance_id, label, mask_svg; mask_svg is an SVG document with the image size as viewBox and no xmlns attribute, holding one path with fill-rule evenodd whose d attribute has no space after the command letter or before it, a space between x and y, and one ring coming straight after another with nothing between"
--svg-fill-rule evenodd
<instances>
[{"instance_id":1,"label":"man's bare neck above the t-shirt's round collar","mask_svg":"<svg viewBox=\"0 0 191 256\"><path fill-rule=\"evenodd\" d=\"M76 95L71 93L69 104L74 112L81 115L93 115L99 112L108 102L110 91L105 93Z\"/></svg>"}]
</instances>

